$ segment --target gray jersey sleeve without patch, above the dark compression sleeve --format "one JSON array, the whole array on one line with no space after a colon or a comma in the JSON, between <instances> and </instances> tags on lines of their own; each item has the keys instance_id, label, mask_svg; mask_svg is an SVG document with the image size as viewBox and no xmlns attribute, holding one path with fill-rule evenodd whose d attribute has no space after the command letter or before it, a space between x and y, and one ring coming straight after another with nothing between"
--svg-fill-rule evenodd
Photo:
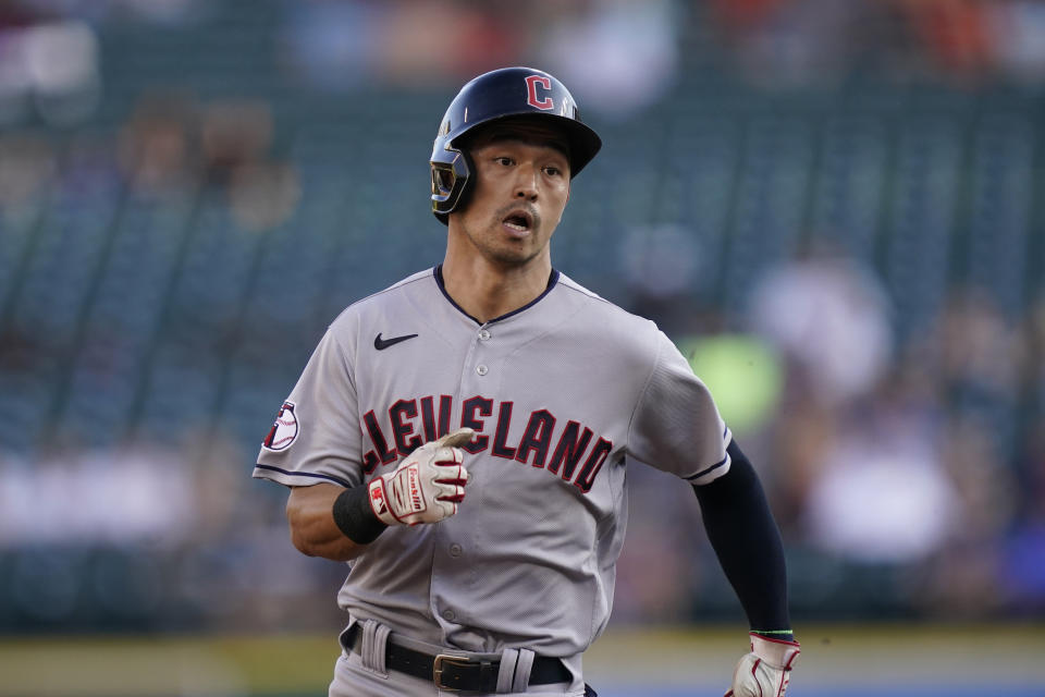
<instances>
[{"instance_id":1,"label":"gray jersey sleeve without patch, above the dark compression sleeve","mask_svg":"<svg viewBox=\"0 0 1045 697\"><path fill-rule=\"evenodd\" d=\"M628 433L628 454L694 485L729 472L733 438L711 392L664 332Z\"/></svg>"}]
</instances>

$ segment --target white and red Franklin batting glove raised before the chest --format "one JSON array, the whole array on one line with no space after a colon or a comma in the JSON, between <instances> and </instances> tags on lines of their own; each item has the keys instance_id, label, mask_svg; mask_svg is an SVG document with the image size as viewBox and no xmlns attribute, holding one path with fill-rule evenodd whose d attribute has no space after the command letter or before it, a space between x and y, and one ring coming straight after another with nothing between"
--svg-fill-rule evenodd
<instances>
[{"instance_id":1,"label":"white and red Franklin batting glove raised before the chest","mask_svg":"<svg viewBox=\"0 0 1045 697\"><path fill-rule=\"evenodd\" d=\"M462 428L439 440L425 443L395 472L370 481L370 508L385 525L438 523L457 513L465 498L468 470L460 445L471 440L475 431Z\"/></svg>"}]
</instances>

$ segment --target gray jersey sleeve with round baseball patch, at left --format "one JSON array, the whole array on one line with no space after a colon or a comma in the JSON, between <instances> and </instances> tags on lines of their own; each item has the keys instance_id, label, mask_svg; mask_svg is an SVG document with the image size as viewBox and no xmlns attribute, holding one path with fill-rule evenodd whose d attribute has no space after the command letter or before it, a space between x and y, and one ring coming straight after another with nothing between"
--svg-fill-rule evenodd
<instances>
[{"instance_id":1,"label":"gray jersey sleeve with round baseball patch, at left","mask_svg":"<svg viewBox=\"0 0 1045 697\"><path fill-rule=\"evenodd\" d=\"M327 331L283 403L258 454L254 477L288 487L362 481L351 356Z\"/></svg>"}]
</instances>

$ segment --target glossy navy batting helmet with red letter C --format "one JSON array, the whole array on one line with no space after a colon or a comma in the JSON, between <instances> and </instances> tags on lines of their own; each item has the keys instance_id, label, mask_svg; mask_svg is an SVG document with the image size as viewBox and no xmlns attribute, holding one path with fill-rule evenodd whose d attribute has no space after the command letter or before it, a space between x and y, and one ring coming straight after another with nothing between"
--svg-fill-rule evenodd
<instances>
[{"instance_id":1,"label":"glossy navy batting helmet with red letter C","mask_svg":"<svg viewBox=\"0 0 1045 697\"><path fill-rule=\"evenodd\" d=\"M602 140L580 121L566 87L532 68L502 68L479 75L450 103L432 147L432 212L443 223L466 198L471 162L460 147L463 135L507 117L540 118L562 131L569 144L569 174L591 161Z\"/></svg>"}]
</instances>

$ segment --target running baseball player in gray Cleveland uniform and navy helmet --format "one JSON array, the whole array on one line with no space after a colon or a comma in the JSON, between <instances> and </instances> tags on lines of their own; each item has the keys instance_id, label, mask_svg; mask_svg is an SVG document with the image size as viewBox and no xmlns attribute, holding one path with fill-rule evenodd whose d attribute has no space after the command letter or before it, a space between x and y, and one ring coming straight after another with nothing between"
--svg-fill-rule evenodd
<instances>
[{"instance_id":1,"label":"running baseball player in gray Cleveland uniform and navy helmet","mask_svg":"<svg viewBox=\"0 0 1045 697\"><path fill-rule=\"evenodd\" d=\"M799 645L751 464L653 322L552 267L600 147L548 73L465 85L430 162L442 264L345 309L265 439L294 545L349 563L332 697L594 695L635 466L693 487L748 615L727 694L784 695Z\"/></svg>"}]
</instances>

